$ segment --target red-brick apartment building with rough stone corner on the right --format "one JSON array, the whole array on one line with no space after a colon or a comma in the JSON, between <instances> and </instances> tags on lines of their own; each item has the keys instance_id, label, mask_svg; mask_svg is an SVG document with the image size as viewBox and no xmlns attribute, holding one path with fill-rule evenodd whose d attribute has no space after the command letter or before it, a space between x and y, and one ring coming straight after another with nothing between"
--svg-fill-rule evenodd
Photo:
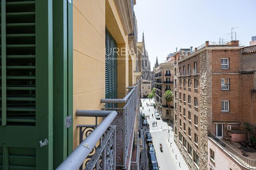
<instances>
[{"instance_id":1,"label":"red-brick apartment building with rough stone corner on the right","mask_svg":"<svg viewBox=\"0 0 256 170\"><path fill-rule=\"evenodd\" d=\"M239 41L206 41L194 51L174 54L174 141L190 169L210 169L209 134L225 139L232 132L242 138L243 123L249 121L245 114L255 112L248 94L254 93L255 79L242 83L242 77L254 75L241 72L242 49Z\"/></svg>"}]
</instances>

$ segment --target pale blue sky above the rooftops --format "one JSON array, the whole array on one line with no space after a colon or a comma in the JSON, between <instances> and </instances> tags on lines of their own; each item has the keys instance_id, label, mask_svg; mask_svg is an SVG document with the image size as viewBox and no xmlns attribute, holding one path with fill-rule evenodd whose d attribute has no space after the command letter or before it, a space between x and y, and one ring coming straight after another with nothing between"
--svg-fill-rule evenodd
<instances>
[{"instance_id":1,"label":"pale blue sky above the rooftops","mask_svg":"<svg viewBox=\"0 0 256 170\"><path fill-rule=\"evenodd\" d=\"M236 31L248 46L256 36L256 0L136 0L138 41L144 31L151 67L163 63L176 47L198 47Z\"/></svg>"}]
</instances>

